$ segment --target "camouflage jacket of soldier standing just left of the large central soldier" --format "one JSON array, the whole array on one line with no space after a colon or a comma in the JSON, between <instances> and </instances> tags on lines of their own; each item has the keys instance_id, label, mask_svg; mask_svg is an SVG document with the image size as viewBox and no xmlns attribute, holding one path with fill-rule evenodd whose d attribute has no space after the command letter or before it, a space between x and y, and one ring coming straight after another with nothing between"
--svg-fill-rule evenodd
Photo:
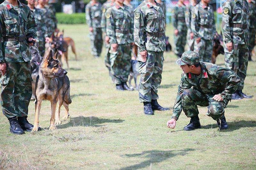
<instances>
[{"instance_id":1,"label":"camouflage jacket of soldier standing just left of the large central soldier","mask_svg":"<svg viewBox=\"0 0 256 170\"><path fill-rule=\"evenodd\" d=\"M127 44L133 42L133 25L132 16L129 7L123 7L115 4L108 8L107 18L107 36L110 44Z\"/></svg>"}]
</instances>

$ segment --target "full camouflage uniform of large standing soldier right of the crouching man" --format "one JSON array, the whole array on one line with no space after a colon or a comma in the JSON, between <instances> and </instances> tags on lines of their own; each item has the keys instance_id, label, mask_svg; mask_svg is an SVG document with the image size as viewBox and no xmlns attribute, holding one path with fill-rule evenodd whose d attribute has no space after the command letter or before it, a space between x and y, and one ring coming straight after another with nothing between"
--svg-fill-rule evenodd
<instances>
[{"instance_id":1,"label":"full camouflage uniform of large standing soldier right of the crouching man","mask_svg":"<svg viewBox=\"0 0 256 170\"><path fill-rule=\"evenodd\" d=\"M234 70L240 77L237 90L244 88L248 65L249 7L245 0L227 0L223 4L222 33L225 43L225 66ZM226 43L233 42L233 49L228 51Z\"/></svg>"}]
</instances>

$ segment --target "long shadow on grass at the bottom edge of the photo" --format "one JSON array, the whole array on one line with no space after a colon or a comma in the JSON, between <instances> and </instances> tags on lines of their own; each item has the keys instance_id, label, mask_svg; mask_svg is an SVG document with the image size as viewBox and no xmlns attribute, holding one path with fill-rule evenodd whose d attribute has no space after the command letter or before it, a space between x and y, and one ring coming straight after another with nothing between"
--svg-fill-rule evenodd
<instances>
[{"instance_id":1,"label":"long shadow on grass at the bottom edge of the photo","mask_svg":"<svg viewBox=\"0 0 256 170\"><path fill-rule=\"evenodd\" d=\"M194 151L195 149L183 149L183 150L178 150L178 151L158 151L158 150L152 150L152 151L144 151L141 153L135 153L135 154L125 154L123 156L126 157L143 157L143 158L148 158L148 160L145 160L143 162L140 162L138 164L132 165L132 166L127 166L121 169L142 169L142 168L147 168L150 166L152 163L159 163L162 162L166 159L170 159L172 157L175 157L177 155L186 155L190 151Z\"/></svg>"}]
</instances>

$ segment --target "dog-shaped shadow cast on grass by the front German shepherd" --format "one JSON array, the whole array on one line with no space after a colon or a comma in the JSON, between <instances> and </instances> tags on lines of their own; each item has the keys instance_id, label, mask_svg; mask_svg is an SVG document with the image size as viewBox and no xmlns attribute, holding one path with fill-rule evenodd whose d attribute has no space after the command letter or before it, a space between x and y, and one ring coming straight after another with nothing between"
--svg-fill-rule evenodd
<instances>
[{"instance_id":1,"label":"dog-shaped shadow cast on grass by the front German shepherd","mask_svg":"<svg viewBox=\"0 0 256 170\"><path fill-rule=\"evenodd\" d=\"M104 119L104 118L98 118L98 117L71 117L70 121L66 124L58 125L58 129L64 129L71 126L77 127L77 126L93 126L93 127L99 127L102 126L100 124L103 123L122 123L124 120L122 119Z\"/></svg>"}]
</instances>

